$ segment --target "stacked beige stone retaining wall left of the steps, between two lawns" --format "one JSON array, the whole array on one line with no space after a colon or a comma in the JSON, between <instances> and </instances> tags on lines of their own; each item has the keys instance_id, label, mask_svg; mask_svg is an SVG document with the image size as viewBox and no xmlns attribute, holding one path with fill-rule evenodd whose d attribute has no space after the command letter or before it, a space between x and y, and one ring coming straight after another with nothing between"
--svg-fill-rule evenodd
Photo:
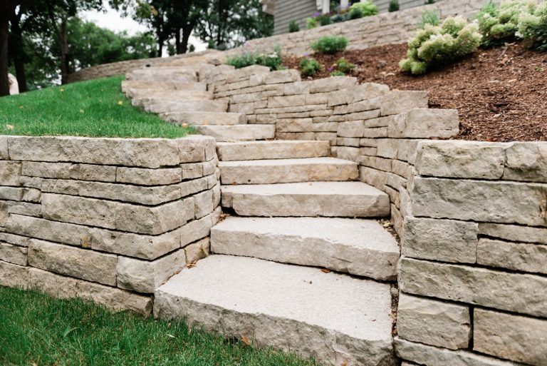
<instances>
[{"instance_id":1,"label":"stacked beige stone retaining wall left of the steps, between two lawns","mask_svg":"<svg viewBox=\"0 0 547 366\"><path fill-rule=\"evenodd\" d=\"M148 315L207 255L220 215L213 138L0 138L0 285Z\"/></svg>"}]
</instances>

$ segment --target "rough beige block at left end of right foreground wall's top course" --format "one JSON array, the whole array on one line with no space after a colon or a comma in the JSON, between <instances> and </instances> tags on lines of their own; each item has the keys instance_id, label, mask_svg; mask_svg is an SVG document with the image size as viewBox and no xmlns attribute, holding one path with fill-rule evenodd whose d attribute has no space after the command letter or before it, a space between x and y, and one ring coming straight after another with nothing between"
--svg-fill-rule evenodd
<instances>
[{"instance_id":1,"label":"rough beige block at left end of right foreground wall's top course","mask_svg":"<svg viewBox=\"0 0 547 366\"><path fill-rule=\"evenodd\" d=\"M422 176L499 179L504 175L504 143L422 141L415 168Z\"/></svg>"}]
</instances>

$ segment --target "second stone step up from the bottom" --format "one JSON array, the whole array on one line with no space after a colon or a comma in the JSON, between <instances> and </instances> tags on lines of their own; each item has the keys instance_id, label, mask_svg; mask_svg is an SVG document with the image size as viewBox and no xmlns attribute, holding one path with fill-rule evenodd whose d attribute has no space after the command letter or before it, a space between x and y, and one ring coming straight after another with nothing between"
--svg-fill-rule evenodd
<instances>
[{"instance_id":1,"label":"second stone step up from the bottom","mask_svg":"<svg viewBox=\"0 0 547 366\"><path fill-rule=\"evenodd\" d=\"M244 218L211 229L213 253L313 265L377 280L394 280L397 240L377 220Z\"/></svg>"}]
</instances>

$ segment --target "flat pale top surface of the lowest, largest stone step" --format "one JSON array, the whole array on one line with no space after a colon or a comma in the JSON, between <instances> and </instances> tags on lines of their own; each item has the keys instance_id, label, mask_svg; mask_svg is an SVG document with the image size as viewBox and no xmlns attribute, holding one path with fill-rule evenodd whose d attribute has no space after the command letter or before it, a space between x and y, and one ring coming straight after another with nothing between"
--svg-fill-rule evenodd
<instances>
[{"instance_id":1,"label":"flat pale top surface of the lowest, largest stone step","mask_svg":"<svg viewBox=\"0 0 547 366\"><path fill-rule=\"evenodd\" d=\"M318 268L211 255L174 275L155 295L160 316L169 315L163 307L168 296L195 306L214 305L240 315L293 320L360 340L391 342L390 285Z\"/></svg>"}]
</instances>

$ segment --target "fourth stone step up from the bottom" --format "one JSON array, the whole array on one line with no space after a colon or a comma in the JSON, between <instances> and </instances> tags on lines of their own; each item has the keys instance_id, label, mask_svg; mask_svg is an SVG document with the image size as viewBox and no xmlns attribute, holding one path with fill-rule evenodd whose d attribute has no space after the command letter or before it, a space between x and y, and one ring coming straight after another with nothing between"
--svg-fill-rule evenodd
<instances>
[{"instance_id":1,"label":"fourth stone step up from the bottom","mask_svg":"<svg viewBox=\"0 0 547 366\"><path fill-rule=\"evenodd\" d=\"M222 184L271 184L355 181L358 164L338 158L301 158L219 162Z\"/></svg>"}]
</instances>

